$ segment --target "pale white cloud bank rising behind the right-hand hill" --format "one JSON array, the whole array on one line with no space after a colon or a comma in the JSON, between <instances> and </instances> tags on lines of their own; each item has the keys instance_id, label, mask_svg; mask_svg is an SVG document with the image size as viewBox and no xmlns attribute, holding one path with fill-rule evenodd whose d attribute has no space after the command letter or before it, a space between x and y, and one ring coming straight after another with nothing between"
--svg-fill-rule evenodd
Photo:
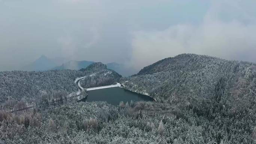
<instances>
[{"instance_id":1,"label":"pale white cloud bank rising behind the right-hand hill","mask_svg":"<svg viewBox=\"0 0 256 144\"><path fill-rule=\"evenodd\" d=\"M230 10L244 10L238 9L237 3L233 5ZM223 20L221 8L213 4L199 25L179 24L159 31L135 31L131 65L142 68L180 53L256 62L255 17L243 11L239 18Z\"/></svg>"}]
</instances>

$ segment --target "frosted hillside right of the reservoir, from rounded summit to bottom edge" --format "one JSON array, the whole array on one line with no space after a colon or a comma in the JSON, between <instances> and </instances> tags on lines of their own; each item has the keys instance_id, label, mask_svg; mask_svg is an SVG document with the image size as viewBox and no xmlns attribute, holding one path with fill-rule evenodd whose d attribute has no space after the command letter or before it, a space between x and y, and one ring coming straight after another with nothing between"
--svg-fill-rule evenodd
<instances>
[{"instance_id":1,"label":"frosted hillside right of the reservoir, from rounded summit to bottom edge","mask_svg":"<svg viewBox=\"0 0 256 144\"><path fill-rule=\"evenodd\" d=\"M253 63L182 54L158 61L121 81L126 89L176 106L183 114L189 111L189 117L181 117L189 125L202 126L204 143L255 143L256 65ZM179 143L185 139L181 138Z\"/></svg>"}]
</instances>

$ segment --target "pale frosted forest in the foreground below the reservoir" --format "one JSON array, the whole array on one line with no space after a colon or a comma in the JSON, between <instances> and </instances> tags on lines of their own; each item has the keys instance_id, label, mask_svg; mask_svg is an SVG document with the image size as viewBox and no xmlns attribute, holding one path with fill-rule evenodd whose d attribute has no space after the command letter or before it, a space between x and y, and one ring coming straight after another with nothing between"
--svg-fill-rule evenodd
<instances>
[{"instance_id":1,"label":"pale frosted forest in the foreground below the reservoir","mask_svg":"<svg viewBox=\"0 0 256 144\"><path fill-rule=\"evenodd\" d=\"M186 143L203 143L201 127L187 125L185 119L176 120L174 115L146 113L141 105L155 106L151 102L113 106L106 102L64 101L40 111L0 113L0 143L166 144L177 143L182 137ZM161 111L164 106L156 108Z\"/></svg>"}]
</instances>

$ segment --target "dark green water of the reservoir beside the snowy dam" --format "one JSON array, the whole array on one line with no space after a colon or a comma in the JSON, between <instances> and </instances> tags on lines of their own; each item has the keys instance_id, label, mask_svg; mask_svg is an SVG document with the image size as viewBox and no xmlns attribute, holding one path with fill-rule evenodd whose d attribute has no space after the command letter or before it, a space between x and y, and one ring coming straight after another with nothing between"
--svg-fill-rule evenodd
<instances>
[{"instance_id":1,"label":"dark green water of the reservoir beside the snowy dam","mask_svg":"<svg viewBox=\"0 0 256 144\"><path fill-rule=\"evenodd\" d=\"M114 87L106 89L96 89L92 91L87 91L87 98L83 98L79 101L106 101L112 105L119 105L120 101L130 102L132 101L154 101L153 98L147 95L137 94L125 90L124 88Z\"/></svg>"}]
</instances>

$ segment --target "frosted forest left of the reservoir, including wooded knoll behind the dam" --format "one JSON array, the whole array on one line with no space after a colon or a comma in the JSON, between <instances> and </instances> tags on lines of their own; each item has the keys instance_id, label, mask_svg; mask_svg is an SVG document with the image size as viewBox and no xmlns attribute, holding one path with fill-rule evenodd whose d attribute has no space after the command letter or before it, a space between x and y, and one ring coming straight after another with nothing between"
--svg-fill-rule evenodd
<instances>
[{"instance_id":1,"label":"frosted forest left of the reservoir, including wooded knoll behind the dam","mask_svg":"<svg viewBox=\"0 0 256 144\"><path fill-rule=\"evenodd\" d=\"M91 67L91 68L90 68ZM90 69L51 70L51 71L4 71L0 72L0 101L2 109L19 110L34 105L55 103L67 99L68 95L78 90L74 80L88 76L82 80L84 88L115 84L120 75L112 70L112 74L104 76L91 74L107 70L106 65L94 63ZM97 81L97 82L96 82ZM95 82L95 83L94 83Z\"/></svg>"}]
</instances>

